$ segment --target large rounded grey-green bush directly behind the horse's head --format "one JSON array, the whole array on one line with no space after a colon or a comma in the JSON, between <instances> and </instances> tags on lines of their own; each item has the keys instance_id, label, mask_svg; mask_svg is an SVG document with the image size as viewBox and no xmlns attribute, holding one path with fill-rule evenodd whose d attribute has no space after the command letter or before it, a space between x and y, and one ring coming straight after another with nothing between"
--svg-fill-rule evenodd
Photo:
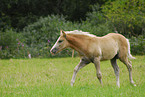
<instances>
[{"instance_id":1,"label":"large rounded grey-green bush directly behind the horse's head","mask_svg":"<svg viewBox=\"0 0 145 97\"><path fill-rule=\"evenodd\" d=\"M51 57L49 51L60 35L60 30L76 30L79 26L80 24L66 21L65 17L60 15L41 17L37 22L28 25L23 30L28 51L32 57ZM70 50L65 52L68 54ZM63 52L58 56L64 56Z\"/></svg>"}]
</instances>

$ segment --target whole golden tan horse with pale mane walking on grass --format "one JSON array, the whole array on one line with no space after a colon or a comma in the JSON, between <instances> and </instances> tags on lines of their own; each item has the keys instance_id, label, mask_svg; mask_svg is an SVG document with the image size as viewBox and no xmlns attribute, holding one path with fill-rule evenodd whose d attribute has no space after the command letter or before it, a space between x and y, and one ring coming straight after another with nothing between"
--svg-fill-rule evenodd
<instances>
[{"instance_id":1,"label":"whole golden tan horse with pale mane walking on grass","mask_svg":"<svg viewBox=\"0 0 145 97\"><path fill-rule=\"evenodd\" d=\"M128 60L128 58L135 59L135 57L130 54L129 40L121 34L110 33L103 37L97 37L88 32L78 30L66 32L61 31L60 37L51 48L50 52L56 54L68 47L75 49L81 56L80 63L74 68L71 80L72 86L75 82L77 72L90 62L94 63L97 71L97 78L102 84L100 61L111 60L116 75L116 83L117 86L120 87L117 59L126 65L129 71L130 83L136 86L132 79L132 65Z\"/></svg>"}]
</instances>

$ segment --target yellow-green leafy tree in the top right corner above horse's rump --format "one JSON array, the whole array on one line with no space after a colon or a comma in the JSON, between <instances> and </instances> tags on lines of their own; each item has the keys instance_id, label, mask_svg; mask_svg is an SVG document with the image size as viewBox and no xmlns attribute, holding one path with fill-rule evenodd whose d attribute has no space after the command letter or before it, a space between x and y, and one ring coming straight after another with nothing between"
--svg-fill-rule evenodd
<instances>
[{"instance_id":1,"label":"yellow-green leafy tree in the top right corner above horse's rump","mask_svg":"<svg viewBox=\"0 0 145 97\"><path fill-rule=\"evenodd\" d=\"M145 25L144 0L116 0L102 6L106 18L124 35L140 35Z\"/></svg>"}]
</instances>

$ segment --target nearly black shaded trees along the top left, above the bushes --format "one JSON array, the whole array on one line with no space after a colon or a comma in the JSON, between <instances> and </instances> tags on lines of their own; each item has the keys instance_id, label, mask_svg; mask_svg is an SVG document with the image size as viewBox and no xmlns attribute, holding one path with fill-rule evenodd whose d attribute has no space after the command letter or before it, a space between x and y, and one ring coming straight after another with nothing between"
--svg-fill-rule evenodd
<instances>
[{"instance_id":1,"label":"nearly black shaded trees along the top left, above the bushes","mask_svg":"<svg viewBox=\"0 0 145 97\"><path fill-rule=\"evenodd\" d=\"M63 14L67 20L86 19L94 4L103 5L108 0L1 0L0 27L22 29L40 16Z\"/></svg>"}]
</instances>

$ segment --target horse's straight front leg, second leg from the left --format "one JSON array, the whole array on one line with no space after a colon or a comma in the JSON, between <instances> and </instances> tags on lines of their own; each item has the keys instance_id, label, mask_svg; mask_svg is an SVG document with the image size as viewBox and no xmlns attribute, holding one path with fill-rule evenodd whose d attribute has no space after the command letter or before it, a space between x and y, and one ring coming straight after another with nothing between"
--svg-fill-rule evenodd
<instances>
[{"instance_id":1,"label":"horse's straight front leg, second leg from the left","mask_svg":"<svg viewBox=\"0 0 145 97\"><path fill-rule=\"evenodd\" d=\"M96 57L94 58L94 65L96 68L96 72L97 72L97 78L99 79L100 83L102 83L102 74L101 74L101 70L100 70L100 58Z\"/></svg>"}]
</instances>

